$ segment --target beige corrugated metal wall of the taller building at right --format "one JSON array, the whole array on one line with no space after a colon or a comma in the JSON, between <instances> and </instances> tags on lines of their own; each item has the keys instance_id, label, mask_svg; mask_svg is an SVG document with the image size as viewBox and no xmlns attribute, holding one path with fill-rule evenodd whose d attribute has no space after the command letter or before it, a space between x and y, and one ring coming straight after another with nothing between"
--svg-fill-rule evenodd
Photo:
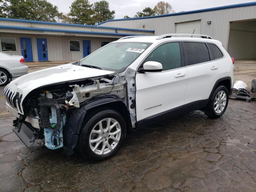
<instances>
[{"instance_id":1,"label":"beige corrugated metal wall of the taller building at right","mask_svg":"<svg viewBox=\"0 0 256 192\"><path fill-rule=\"evenodd\" d=\"M229 23L255 18L256 6L248 6L178 16L112 21L100 26L155 30L155 35L161 35L175 33L175 23L201 20L201 34L206 34L214 39L220 40L224 48L227 48ZM207 21L211 21L211 24L207 24Z\"/></svg>"}]
</instances>

